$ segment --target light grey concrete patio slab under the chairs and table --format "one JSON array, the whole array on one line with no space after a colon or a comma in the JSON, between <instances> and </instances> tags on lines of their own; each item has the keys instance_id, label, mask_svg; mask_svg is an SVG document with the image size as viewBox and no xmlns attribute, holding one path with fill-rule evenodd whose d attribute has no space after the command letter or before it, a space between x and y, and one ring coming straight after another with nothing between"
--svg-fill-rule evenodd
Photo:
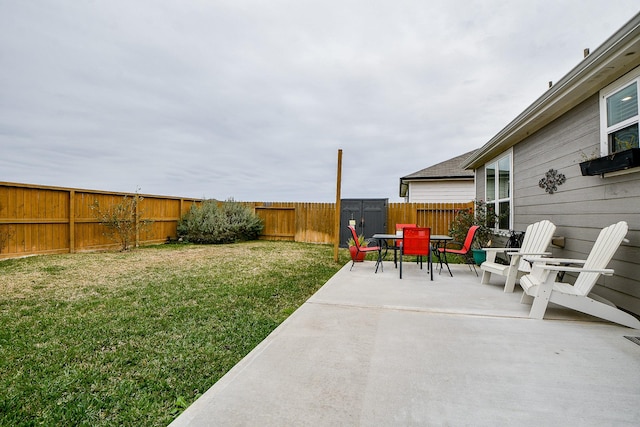
<instances>
[{"instance_id":1,"label":"light grey concrete patio slab under the chairs and table","mask_svg":"<svg viewBox=\"0 0 640 427\"><path fill-rule=\"evenodd\" d=\"M529 319L465 265L349 266L171 426L638 425L640 331Z\"/></svg>"}]
</instances>

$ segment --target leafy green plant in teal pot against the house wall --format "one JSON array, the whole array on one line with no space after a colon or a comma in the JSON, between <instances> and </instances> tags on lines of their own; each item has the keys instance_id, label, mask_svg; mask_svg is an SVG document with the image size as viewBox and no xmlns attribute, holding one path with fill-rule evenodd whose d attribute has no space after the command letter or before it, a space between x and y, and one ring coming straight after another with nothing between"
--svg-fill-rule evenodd
<instances>
[{"instance_id":1,"label":"leafy green plant in teal pot against the house wall","mask_svg":"<svg viewBox=\"0 0 640 427\"><path fill-rule=\"evenodd\" d=\"M474 262L477 265L482 264L487 258L487 254L482 248L491 246L491 240L494 235L493 230L498 219L498 215L496 215L491 205L488 206L484 201L476 200L475 209L461 209L456 212L449 228L449 235L453 237L452 243L462 245L469 228L473 225L480 226L476 232L471 250Z\"/></svg>"}]
</instances>

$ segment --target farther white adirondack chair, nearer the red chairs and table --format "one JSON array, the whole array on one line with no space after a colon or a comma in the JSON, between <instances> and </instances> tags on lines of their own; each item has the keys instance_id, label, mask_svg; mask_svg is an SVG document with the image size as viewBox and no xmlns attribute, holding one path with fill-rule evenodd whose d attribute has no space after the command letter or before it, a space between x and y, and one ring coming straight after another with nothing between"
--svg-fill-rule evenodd
<instances>
[{"instance_id":1,"label":"farther white adirondack chair, nearer the red chairs and table","mask_svg":"<svg viewBox=\"0 0 640 427\"><path fill-rule=\"evenodd\" d=\"M499 274L506 276L504 291L513 292L516 279L525 273L531 272L531 264L524 257L551 255L550 252L545 251L549 247L555 231L556 226L545 219L527 227L521 248L483 248L487 251L487 260L480 265L482 270L481 283L488 284L491 274ZM509 265L496 262L498 252L505 252L511 258Z\"/></svg>"}]
</instances>

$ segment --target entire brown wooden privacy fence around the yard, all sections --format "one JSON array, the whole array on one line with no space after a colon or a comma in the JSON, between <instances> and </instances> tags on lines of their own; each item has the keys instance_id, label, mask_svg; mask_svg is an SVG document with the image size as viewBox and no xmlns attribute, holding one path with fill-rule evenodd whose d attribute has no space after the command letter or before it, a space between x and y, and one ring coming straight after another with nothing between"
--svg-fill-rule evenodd
<instances>
[{"instance_id":1,"label":"entire brown wooden privacy fence around the yard, all sections","mask_svg":"<svg viewBox=\"0 0 640 427\"><path fill-rule=\"evenodd\" d=\"M73 253L118 248L104 235L91 209L122 203L134 193L116 193L73 188L0 182L0 258L33 254ZM176 227L193 203L201 199L141 195L139 215L153 224L137 236L136 244L162 243L175 239ZM260 239L307 243L333 243L334 203L243 202L264 222ZM396 223L431 227L433 234L447 234L455 212L473 208L469 203L390 203L388 233ZM369 236L367 236L369 237Z\"/></svg>"}]
</instances>

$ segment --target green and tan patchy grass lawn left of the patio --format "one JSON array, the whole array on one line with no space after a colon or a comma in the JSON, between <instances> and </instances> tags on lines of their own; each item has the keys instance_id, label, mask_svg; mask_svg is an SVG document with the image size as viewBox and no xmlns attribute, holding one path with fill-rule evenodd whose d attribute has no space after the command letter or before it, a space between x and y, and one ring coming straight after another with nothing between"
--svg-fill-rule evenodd
<instances>
[{"instance_id":1,"label":"green and tan patchy grass lawn left of the patio","mask_svg":"<svg viewBox=\"0 0 640 427\"><path fill-rule=\"evenodd\" d=\"M0 262L0 425L167 425L348 261L289 242Z\"/></svg>"}]
</instances>

